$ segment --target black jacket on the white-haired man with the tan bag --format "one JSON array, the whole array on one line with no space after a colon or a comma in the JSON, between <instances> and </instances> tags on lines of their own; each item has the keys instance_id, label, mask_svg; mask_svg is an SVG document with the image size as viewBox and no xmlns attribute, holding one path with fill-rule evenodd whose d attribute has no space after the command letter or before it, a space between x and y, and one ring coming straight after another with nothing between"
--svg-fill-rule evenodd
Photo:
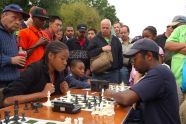
<instances>
[{"instance_id":1,"label":"black jacket on the white-haired man with the tan bag","mask_svg":"<svg viewBox=\"0 0 186 124\"><path fill-rule=\"evenodd\" d=\"M92 58L99 55L101 52L103 52L102 47L106 45L108 45L108 43L102 37L101 32L99 32L88 46L89 57ZM111 69L109 69L108 71L120 69L123 65L121 42L114 35L112 35L112 39L111 39L111 51L112 51L113 63Z\"/></svg>"}]
</instances>

